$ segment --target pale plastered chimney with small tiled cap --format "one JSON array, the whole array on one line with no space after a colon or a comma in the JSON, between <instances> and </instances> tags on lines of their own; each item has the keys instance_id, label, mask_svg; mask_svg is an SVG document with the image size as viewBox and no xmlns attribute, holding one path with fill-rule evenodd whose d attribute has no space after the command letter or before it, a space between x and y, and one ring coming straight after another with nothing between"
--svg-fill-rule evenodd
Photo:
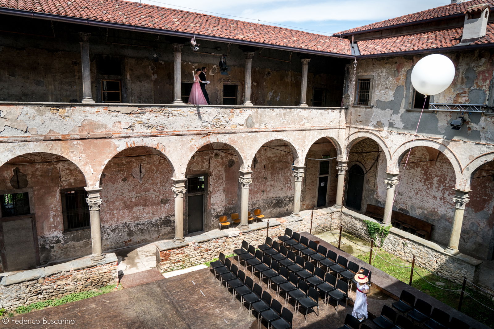
<instances>
[{"instance_id":1,"label":"pale plastered chimney with small tiled cap","mask_svg":"<svg viewBox=\"0 0 494 329\"><path fill-rule=\"evenodd\" d=\"M472 42L486 35L489 6L485 3L473 5L465 11L461 43Z\"/></svg>"}]
</instances>

